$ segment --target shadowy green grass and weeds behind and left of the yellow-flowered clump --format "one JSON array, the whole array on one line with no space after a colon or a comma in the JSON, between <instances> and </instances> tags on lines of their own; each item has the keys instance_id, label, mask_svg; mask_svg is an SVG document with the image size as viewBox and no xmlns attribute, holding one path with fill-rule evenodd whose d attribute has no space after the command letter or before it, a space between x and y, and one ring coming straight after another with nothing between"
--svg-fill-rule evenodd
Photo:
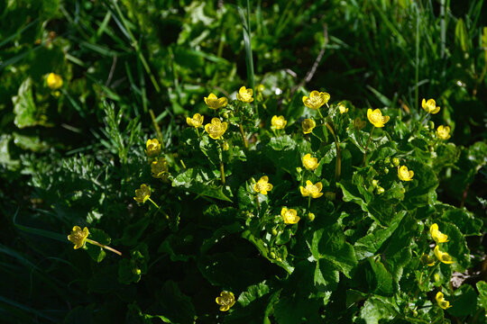
<instances>
[{"instance_id":1,"label":"shadowy green grass and weeds behind and left of the yellow-flowered clump","mask_svg":"<svg viewBox=\"0 0 487 324\"><path fill-rule=\"evenodd\" d=\"M161 266L167 255L151 260L158 270L151 284L121 285L109 280L115 264L97 271L66 235L74 224L96 224L115 245L133 244L124 220L143 212L132 197L140 179L150 178L140 166L145 140L155 136L151 111L171 150L185 117L207 112L204 96L234 97L249 85L238 6L246 3L0 0L3 320L77 322L91 314L95 322L124 321L137 312L127 315L124 306L135 298L150 312L143 296L153 286L178 294L164 282L182 280L184 264ZM285 98L305 86L413 119L422 98L435 98L442 111L432 121L452 126L452 142L466 147L487 138L482 0L250 1L250 13L255 80L266 95ZM44 83L51 72L64 79L59 96ZM464 160L437 192L484 218L485 162ZM244 240L232 244L254 253ZM472 244L483 253L482 238ZM262 277L277 271L253 266ZM191 286L203 282L186 283L186 293L218 295L209 284ZM114 295L118 302L109 300ZM196 307L216 316L214 300Z\"/></svg>"}]
</instances>

